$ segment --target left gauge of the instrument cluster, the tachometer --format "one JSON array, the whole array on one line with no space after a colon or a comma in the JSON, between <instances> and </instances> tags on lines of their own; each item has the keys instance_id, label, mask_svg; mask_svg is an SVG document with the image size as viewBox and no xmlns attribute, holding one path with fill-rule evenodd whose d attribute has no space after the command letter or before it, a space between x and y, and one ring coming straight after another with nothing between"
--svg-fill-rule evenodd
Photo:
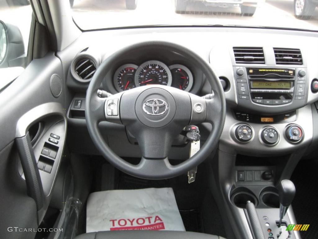
<instances>
[{"instance_id":1,"label":"left gauge of the instrument cluster, the tachometer","mask_svg":"<svg viewBox=\"0 0 318 239\"><path fill-rule=\"evenodd\" d=\"M135 88L135 74L138 66L134 64L122 65L114 74L114 86L117 91Z\"/></svg>"}]
</instances>

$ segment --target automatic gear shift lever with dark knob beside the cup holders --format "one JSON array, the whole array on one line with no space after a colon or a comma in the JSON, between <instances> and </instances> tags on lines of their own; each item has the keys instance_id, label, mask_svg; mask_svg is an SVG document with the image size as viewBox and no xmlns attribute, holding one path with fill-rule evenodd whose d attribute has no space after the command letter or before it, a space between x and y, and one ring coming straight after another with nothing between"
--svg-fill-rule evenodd
<instances>
[{"instance_id":1,"label":"automatic gear shift lever with dark knob beside the cup holders","mask_svg":"<svg viewBox=\"0 0 318 239\"><path fill-rule=\"evenodd\" d=\"M278 227L281 225L281 221L285 216L288 207L292 203L294 196L295 196L295 186L292 181L290 180L282 180L280 184L277 186L279 192L279 201L280 201L280 208L279 208L279 224Z\"/></svg>"}]
</instances>

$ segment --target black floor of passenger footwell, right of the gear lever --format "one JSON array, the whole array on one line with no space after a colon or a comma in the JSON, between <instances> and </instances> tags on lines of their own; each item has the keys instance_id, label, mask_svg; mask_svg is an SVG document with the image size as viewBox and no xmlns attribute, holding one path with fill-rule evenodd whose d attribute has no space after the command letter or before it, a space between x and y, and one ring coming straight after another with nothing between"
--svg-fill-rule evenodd
<instances>
[{"instance_id":1,"label":"black floor of passenger footwell, right of the gear lever","mask_svg":"<svg viewBox=\"0 0 318 239\"><path fill-rule=\"evenodd\" d=\"M298 224L309 224L307 231L300 231L302 239L312 239L318 236L318 161L301 160L291 180L296 187L296 195L292 206Z\"/></svg>"}]
</instances>

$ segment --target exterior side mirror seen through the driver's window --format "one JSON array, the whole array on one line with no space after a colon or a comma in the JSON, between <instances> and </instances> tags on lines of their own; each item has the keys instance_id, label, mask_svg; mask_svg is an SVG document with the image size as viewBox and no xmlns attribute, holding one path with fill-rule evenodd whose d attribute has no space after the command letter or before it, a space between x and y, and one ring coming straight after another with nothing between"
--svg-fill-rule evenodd
<instances>
[{"instance_id":1,"label":"exterior side mirror seen through the driver's window","mask_svg":"<svg viewBox=\"0 0 318 239\"><path fill-rule=\"evenodd\" d=\"M0 68L24 67L25 59L24 42L19 28L0 21Z\"/></svg>"}]
</instances>

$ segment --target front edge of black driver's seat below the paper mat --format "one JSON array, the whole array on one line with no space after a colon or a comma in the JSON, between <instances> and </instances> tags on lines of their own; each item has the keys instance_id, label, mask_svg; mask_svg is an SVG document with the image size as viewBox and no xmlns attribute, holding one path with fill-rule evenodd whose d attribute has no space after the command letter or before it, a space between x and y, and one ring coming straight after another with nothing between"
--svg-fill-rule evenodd
<instances>
[{"instance_id":1,"label":"front edge of black driver's seat below the paper mat","mask_svg":"<svg viewBox=\"0 0 318 239\"><path fill-rule=\"evenodd\" d=\"M78 235L75 239L225 239L221 236L180 231L104 231Z\"/></svg>"}]
</instances>

